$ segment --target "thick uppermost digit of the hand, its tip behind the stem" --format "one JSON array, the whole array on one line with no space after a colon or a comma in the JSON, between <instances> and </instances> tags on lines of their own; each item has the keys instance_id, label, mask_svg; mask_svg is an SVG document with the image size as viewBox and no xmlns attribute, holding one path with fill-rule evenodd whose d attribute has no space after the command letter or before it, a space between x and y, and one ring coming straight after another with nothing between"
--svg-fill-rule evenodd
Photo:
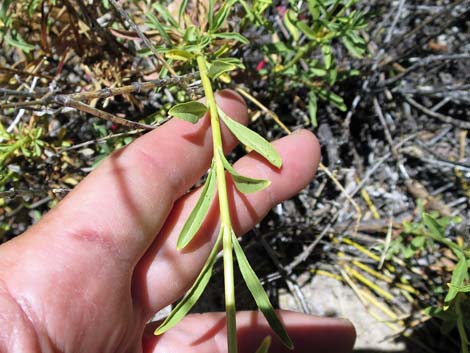
<instances>
[{"instance_id":1,"label":"thick uppermost digit of the hand, its tip behind the stem","mask_svg":"<svg viewBox=\"0 0 470 353\"><path fill-rule=\"evenodd\" d=\"M246 123L247 108L238 94L222 91L217 101L227 114ZM232 134L226 128L222 133L224 146L233 147ZM80 256L91 242L102 255L111 252L112 258L135 264L173 202L207 170L211 157L209 118L197 124L173 119L108 157L40 222L36 233L47 232L48 242L61 249L73 247Z\"/></svg>"}]
</instances>

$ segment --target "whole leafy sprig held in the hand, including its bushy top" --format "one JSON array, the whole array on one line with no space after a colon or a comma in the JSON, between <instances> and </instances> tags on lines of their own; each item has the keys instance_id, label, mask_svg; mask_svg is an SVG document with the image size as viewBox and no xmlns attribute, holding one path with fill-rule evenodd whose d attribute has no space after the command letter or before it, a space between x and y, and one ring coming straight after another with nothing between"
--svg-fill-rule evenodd
<instances>
[{"instance_id":1,"label":"whole leafy sprig held in the hand, including its bushy top","mask_svg":"<svg viewBox=\"0 0 470 353\"><path fill-rule=\"evenodd\" d=\"M214 48L214 45L211 45L212 42L220 39L223 39L224 41L247 42L247 39L238 33L220 32L220 29L233 4L234 1L224 2L215 13L215 1L209 1L209 8L207 10L208 21L205 32L201 32L195 26L189 25L184 32L181 33L183 38L181 45L177 47L170 46L170 48L167 49L160 49L160 51L169 60L179 60L183 63L197 65L204 90L204 96L206 98L206 104L197 101L177 104L169 110L169 115L191 123L197 123L199 119L208 112L213 139L211 168L202 188L200 198L190 213L179 235L177 248L181 250L186 247L197 234L208 213L214 196L216 195L216 191L220 209L220 231L214 247L212 248L209 257L207 258L204 267L196 278L194 284L182 300L174 307L173 311L164 320L164 322L155 330L155 334L162 334L176 325L197 302L211 278L217 253L222 246L228 352L237 352L234 254L242 277L253 295L258 308L264 314L269 325L277 336L279 336L283 344L292 349L293 343L281 321L277 317L260 280L251 268L243 249L238 242L237 235L234 232L232 221L230 219L230 203L227 195L226 182L227 175L230 175L236 188L242 193L252 193L262 190L269 186L270 181L250 178L235 171L223 153L221 124L225 124L225 126L242 144L259 153L273 166L280 168L282 165L280 155L268 141L225 114L222 109L217 106L215 100L213 91L215 81L227 80L227 73L229 71L243 67L240 60L236 58L223 57L223 54L226 51L223 46L215 51L211 51L211 49ZM163 13L163 17L167 17L168 21L162 24L153 15L149 15L148 19L150 24L153 24L154 28L161 31L162 37L164 37L163 33L166 34L168 30L165 26L181 25L184 19L184 9L180 10L178 20L180 23L173 23L176 22L176 20L173 18L170 19L169 16L166 16L163 7L158 7L160 10L163 10L163 12L160 13ZM166 39L168 44L170 44L171 38L169 38L167 34ZM258 352L267 352L269 349L269 343L269 338L263 340Z\"/></svg>"}]
</instances>

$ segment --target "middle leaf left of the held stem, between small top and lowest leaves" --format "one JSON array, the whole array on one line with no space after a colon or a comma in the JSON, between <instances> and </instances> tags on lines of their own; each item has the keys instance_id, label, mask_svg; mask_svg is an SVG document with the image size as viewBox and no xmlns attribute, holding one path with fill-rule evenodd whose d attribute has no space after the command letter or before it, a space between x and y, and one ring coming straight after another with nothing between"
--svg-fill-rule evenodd
<instances>
[{"instance_id":1,"label":"middle leaf left of the held stem, between small top and lowest leaves","mask_svg":"<svg viewBox=\"0 0 470 353\"><path fill-rule=\"evenodd\" d=\"M211 170L207 175L206 182L204 183L204 187L202 188L201 195L199 196L199 199L197 200L188 219L184 223L183 229L178 237L178 242L176 244L178 250L183 249L193 239L209 211L212 199L214 198L217 180L213 167L214 166L211 167Z\"/></svg>"}]
</instances>

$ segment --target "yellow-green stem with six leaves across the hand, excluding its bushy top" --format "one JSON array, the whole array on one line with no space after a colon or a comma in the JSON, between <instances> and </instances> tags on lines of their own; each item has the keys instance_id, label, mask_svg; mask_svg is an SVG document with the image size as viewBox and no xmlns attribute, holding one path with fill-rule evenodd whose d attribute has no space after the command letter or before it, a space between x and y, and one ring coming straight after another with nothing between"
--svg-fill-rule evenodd
<instances>
[{"instance_id":1,"label":"yellow-green stem with six leaves across the hand, excluding its bushy top","mask_svg":"<svg viewBox=\"0 0 470 353\"><path fill-rule=\"evenodd\" d=\"M242 277L253 295L259 309L263 312L268 323L273 328L274 332L281 338L282 342L287 347L292 348L292 341L277 318L268 296L255 272L251 268L233 230L230 219L230 204L227 196L226 172L231 175L238 191L243 193L262 190L267 187L270 182L268 180L250 178L235 171L232 165L225 158L222 150L222 135L220 130L221 122L227 126L240 142L265 157L272 165L278 168L281 167L281 157L271 144L263 137L227 116L217 106L214 92L212 90L209 71L207 69L207 61L202 55L198 55L196 60L204 88L204 94L207 100L207 107L204 104L195 101L182 103L174 106L170 110L170 114L177 118L195 123L206 113L207 110L209 111L213 138L213 158L200 198L183 226L178 238L177 247L178 249L183 249L191 242L209 210L216 190L220 208L220 231L215 245L195 283L189 289L181 302L176 305L166 320L159 328L157 328L155 333L161 334L177 324L196 303L209 282L216 255L220 245L222 244L228 351L231 353L237 352L233 253L235 253Z\"/></svg>"}]
</instances>

